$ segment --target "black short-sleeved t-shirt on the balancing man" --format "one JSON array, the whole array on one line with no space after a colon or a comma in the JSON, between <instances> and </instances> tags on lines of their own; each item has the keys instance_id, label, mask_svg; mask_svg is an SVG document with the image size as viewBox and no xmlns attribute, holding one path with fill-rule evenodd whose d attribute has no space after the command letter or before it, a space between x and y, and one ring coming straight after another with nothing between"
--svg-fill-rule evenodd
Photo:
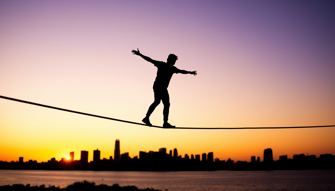
<instances>
[{"instance_id":1,"label":"black short-sleeved t-shirt on the balancing man","mask_svg":"<svg viewBox=\"0 0 335 191\"><path fill-rule=\"evenodd\" d=\"M178 74L181 70L162 61L153 61L152 64L157 67L157 76L153 83L153 89L166 89L169 86L171 77L174 73Z\"/></svg>"}]
</instances>

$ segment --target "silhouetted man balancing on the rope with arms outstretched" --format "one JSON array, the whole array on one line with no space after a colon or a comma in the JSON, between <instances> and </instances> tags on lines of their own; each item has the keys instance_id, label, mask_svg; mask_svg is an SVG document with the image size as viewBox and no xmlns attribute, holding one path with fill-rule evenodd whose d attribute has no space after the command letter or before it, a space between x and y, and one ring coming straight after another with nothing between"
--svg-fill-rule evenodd
<instances>
[{"instance_id":1,"label":"silhouetted man balancing on the rope with arms outstretched","mask_svg":"<svg viewBox=\"0 0 335 191\"><path fill-rule=\"evenodd\" d=\"M171 125L167 122L169 118L169 108L170 108L170 97L169 93L167 92L167 87L169 86L171 77L174 73L178 74L193 74L194 76L197 75L196 71L189 72L186 70L179 70L177 67L173 66L175 65L176 61L178 60L178 57L174 54L170 54L169 57L167 57L167 62L162 61L155 61L152 60L149 57L146 57L140 53L140 51L137 49L137 51L132 50L131 51L133 55L138 55L142 57L144 60L151 62L155 67L157 67L157 77L155 79L155 82L153 83L153 92L154 92L154 98L155 101L150 105L148 112L144 119L142 120L143 123L147 124L148 126L152 126L152 124L149 121L149 117L153 110L159 105L160 100L162 100L164 104L163 109L163 116L164 116L164 128L174 128L176 126Z\"/></svg>"}]
</instances>

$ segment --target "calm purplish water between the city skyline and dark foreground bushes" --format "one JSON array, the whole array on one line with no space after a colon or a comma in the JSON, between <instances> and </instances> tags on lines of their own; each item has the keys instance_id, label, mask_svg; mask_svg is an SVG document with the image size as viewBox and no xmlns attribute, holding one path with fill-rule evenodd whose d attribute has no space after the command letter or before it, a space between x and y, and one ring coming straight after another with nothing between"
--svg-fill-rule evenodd
<instances>
[{"instance_id":1,"label":"calm purplish water between the city skyline and dark foreground bushes","mask_svg":"<svg viewBox=\"0 0 335 191\"><path fill-rule=\"evenodd\" d=\"M104 179L104 180L102 180ZM75 181L169 191L204 190L335 190L335 171L196 171L115 172L0 170L0 185L30 184L66 187Z\"/></svg>"}]
</instances>

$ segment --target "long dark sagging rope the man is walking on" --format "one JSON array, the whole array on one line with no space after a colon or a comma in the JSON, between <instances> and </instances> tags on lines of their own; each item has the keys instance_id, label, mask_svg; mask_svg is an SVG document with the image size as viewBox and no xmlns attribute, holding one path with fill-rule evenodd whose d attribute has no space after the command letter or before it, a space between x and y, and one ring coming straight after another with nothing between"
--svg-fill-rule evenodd
<instances>
[{"instance_id":1,"label":"long dark sagging rope the man is walking on","mask_svg":"<svg viewBox=\"0 0 335 191\"><path fill-rule=\"evenodd\" d=\"M143 123L136 123L136 122L132 122L132 121L125 121L125 120L121 120L121 119L114 119L114 118L110 118L110 117L93 115L93 114L83 113L83 112L79 112L79 111L72 111L72 110L68 110L68 109L62 109L62 108L53 107L53 106L49 106L49 105L42 105L42 104L39 104L39 103L33 103L33 102L29 102L29 101L23 101L23 100L14 99L14 98L5 97L5 96L0 96L0 98L12 100L12 101L18 101L18 102L22 102L22 103L28 103L28 104L32 104L32 105L38 105L38 106L41 106L41 107L48 107L48 108L51 108L51 109L58 109L58 110L62 110L62 111L67 111L67 112L72 112L72 113L78 113L78 114L82 114L82 115L88 115L88 116L92 116L92 117L99 117L99 118L103 118L103 119L110 119L110 120L114 120L114 121L120 121L120 122L125 122L125 123L132 123L132 124L136 124L136 125L148 126L148 125L143 124ZM158 128L163 128L163 127L156 126L156 125L152 125L152 126L153 127L158 127ZM207 127L207 128L206 127L175 127L174 129L291 129L291 128L334 127L334 126L335 125L301 126L301 127L232 127L232 128L226 128L226 127L218 127L218 128L210 128L210 127Z\"/></svg>"}]
</instances>

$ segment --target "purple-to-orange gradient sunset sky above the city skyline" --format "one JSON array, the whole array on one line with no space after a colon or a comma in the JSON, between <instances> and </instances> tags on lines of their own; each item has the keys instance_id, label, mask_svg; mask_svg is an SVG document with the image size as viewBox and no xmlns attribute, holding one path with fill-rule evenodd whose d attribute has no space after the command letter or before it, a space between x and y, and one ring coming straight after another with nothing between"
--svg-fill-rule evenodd
<instances>
[{"instance_id":1,"label":"purple-to-orange gradient sunset sky above the city skyline","mask_svg":"<svg viewBox=\"0 0 335 191\"><path fill-rule=\"evenodd\" d=\"M179 59L169 122L179 127L335 124L334 1L0 1L0 95L141 122L154 60ZM162 125L163 105L151 115ZM214 152L250 161L335 154L335 127L159 129L0 99L0 160L74 151Z\"/></svg>"}]
</instances>

